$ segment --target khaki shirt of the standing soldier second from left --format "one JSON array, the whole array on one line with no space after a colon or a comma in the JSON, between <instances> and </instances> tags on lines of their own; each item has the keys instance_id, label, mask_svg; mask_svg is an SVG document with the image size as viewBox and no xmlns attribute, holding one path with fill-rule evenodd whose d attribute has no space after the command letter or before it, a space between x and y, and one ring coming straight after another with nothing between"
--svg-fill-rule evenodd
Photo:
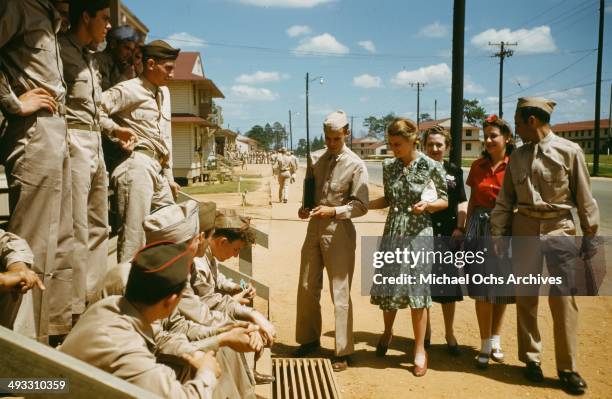
<instances>
[{"instance_id":1,"label":"khaki shirt of the standing soldier second from left","mask_svg":"<svg viewBox=\"0 0 612 399\"><path fill-rule=\"evenodd\" d=\"M97 125L105 130L113 122L102 110L102 88L93 54L78 38L68 33L60 36L60 50L64 64L64 79L68 87L66 94L66 120L68 124Z\"/></svg>"}]
</instances>

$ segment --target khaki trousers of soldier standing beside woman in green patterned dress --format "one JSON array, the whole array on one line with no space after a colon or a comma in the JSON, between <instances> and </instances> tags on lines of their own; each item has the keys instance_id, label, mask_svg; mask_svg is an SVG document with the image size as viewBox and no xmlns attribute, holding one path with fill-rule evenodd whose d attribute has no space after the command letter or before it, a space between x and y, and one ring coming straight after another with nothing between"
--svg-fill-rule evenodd
<instances>
[{"instance_id":1,"label":"khaki trousers of soldier standing beside woman in green patterned dress","mask_svg":"<svg viewBox=\"0 0 612 399\"><path fill-rule=\"evenodd\" d=\"M336 327L337 356L354 352L351 283L356 233L349 219L310 219L302 246L295 339L309 343L321 336L323 268L327 271Z\"/></svg>"}]
</instances>

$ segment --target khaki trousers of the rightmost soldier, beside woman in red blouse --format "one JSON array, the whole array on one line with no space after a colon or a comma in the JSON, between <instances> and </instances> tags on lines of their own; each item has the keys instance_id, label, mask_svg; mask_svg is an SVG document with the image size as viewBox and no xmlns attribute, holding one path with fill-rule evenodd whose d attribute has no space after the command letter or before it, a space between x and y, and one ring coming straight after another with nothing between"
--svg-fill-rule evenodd
<instances>
[{"instance_id":1,"label":"khaki trousers of the rightmost soldier, beside woman in red blouse","mask_svg":"<svg viewBox=\"0 0 612 399\"><path fill-rule=\"evenodd\" d=\"M538 220L515 214L512 235L512 262L515 274L538 274L546 259L550 275L568 276L574 270L578 248L571 237L576 234L574 222L566 217ZM533 239L522 237L533 236ZM518 271L518 273L517 273ZM538 329L537 292L521 293L516 298L518 354L522 362L541 362L542 338ZM549 296L548 303L553 317L555 358L558 370L576 371L578 307L571 295Z\"/></svg>"}]
</instances>

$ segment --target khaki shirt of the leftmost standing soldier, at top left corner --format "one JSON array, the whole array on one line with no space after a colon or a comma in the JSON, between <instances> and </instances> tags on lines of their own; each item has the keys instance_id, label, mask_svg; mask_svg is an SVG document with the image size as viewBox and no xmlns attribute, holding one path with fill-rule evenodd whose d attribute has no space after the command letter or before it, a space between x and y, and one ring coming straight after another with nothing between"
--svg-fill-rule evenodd
<instances>
[{"instance_id":1,"label":"khaki shirt of the leftmost standing soldier, at top left corner","mask_svg":"<svg viewBox=\"0 0 612 399\"><path fill-rule=\"evenodd\" d=\"M18 97L39 87L63 105L61 17L51 1L2 0L0 16L0 108L19 112Z\"/></svg>"}]
</instances>

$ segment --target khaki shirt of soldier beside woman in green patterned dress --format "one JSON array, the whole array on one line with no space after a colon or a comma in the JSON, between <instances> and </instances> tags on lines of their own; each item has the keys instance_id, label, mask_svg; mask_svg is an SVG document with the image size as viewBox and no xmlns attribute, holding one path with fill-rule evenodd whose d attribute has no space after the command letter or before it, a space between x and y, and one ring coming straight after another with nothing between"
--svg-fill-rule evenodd
<instances>
[{"instance_id":1,"label":"khaki shirt of soldier beside woman in green patterned dress","mask_svg":"<svg viewBox=\"0 0 612 399\"><path fill-rule=\"evenodd\" d=\"M336 208L336 219L351 219L368 212L368 170L347 146L333 156L326 149L311 154L315 178L315 204Z\"/></svg>"}]
</instances>

